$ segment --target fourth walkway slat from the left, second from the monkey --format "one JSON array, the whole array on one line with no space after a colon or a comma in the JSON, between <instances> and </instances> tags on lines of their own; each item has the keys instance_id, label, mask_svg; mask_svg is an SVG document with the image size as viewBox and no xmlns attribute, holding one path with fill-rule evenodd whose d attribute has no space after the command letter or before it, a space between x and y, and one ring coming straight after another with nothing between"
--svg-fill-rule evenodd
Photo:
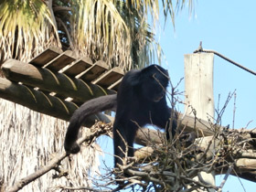
<instances>
[{"instance_id":1,"label":"fourth walkway slat from the left, second from the monkey","mask_svg":"<svg viewBox=\"0 0 256 192\"><path fill-rule=\"evenodd\" d=\"M107 64L101 60L94 63L91 68L80 73L77 78L84 80L86 82L91 82L92 80L97 79L103 72L108 70L109 67Z\"/></svg>"}]
</instances>

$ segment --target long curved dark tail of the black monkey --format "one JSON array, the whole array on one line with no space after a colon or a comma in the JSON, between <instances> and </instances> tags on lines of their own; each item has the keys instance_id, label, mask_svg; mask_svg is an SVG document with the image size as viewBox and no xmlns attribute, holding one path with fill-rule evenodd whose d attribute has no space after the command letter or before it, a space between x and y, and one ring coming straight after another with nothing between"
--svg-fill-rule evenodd
<instances>
[{"instance_id":1,"label":"long curved dark tail of the black monkey","mask_svg":"<svg viewBox=\"0 0 256 192\"><path fill-rule=\"evenodd\" d=\"M77 154L80 146L76 143L80 126L91 114L116 108L116 94L105 95L83 103L70 118L64 148L67 153Z\"/></svg>"}]
</instances>

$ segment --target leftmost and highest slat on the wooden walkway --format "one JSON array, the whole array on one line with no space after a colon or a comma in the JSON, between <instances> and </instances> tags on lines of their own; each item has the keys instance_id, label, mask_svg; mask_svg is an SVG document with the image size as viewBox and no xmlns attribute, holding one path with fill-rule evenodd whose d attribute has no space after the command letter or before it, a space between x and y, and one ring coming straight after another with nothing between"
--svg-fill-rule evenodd
<instances>
[{"instance_id":1,"label":"leftmost and highest slat on the wooden walkway","mask_svg":"<svg viewBox=\"0 0 256 192\"><path fill-rule=\"evenodd\" d=\"M37 55L34 59L31 59L29 61L30 64L43 67L46 65L50 60L55 59L59 56L59 54L62 53L62 50L60 48L48 48L44 50L42 53Z\"/></svg>"}]
</instances>

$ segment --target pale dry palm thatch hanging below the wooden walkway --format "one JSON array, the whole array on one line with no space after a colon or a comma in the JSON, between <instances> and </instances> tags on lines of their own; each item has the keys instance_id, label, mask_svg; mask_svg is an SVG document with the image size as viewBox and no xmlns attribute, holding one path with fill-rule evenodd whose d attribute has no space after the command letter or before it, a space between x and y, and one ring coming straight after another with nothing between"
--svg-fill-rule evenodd
<instances>
[{"instance_id":1,"label":"pale dry palm thatch hanging below the wooden walkway","mask_svg":"<svg viewBox=\"0 0 256 192\"><path fill-rule=\"evenodd\" d=\"M34 173L46 165L54 154L63 152L67 122L33 112L10 101L0 100L0 170L5 187L11 187L20 178ZM69 176L58 177L50 171L45 176L24 187L21 191L49 191L57 186L90 186L88 175L98 171L99 147L92 144L79 155L61 162L62 171Z\"/></svg>"}]
</instances>

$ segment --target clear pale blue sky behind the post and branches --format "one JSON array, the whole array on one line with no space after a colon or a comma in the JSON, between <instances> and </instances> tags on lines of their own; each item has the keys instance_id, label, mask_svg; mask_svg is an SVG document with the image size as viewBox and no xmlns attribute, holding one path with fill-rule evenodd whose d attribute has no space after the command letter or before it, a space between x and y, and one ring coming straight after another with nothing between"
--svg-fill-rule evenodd
<instances>
[{"instance_id":1,"label":"clear pale blue sky behind the post and branches","mask_svg":"<svg viewBox=\"0 0 256 192\"><path fill-rule=\"evenodd\" d=\"M195 0L194 0L195 1ZM176 30L170 21L165 29L157 30L161 47L165 53L163 66L168 69L171 80L176 84L184 77L184 54L193 53L199 42L203 48L214 49L219 53L239 62L241 65L256 71L256 1L195 1L195 10L189 16L187 8L176 16ZM163 17L161 18L163 20ZM229 62L214 58L214 97L217 107L220 95L220 106L223 106L229 92L236 90L235 128L249 124L249 128L256 127L256 76L239 69ZM184 91L184 81L179 86ZM229 102L228 108L222 116L223 125L232 125L234 100ZM179 110L183 112L183 107ZM112 147L112 141L102 141L100 144ZM103 147L106 150L106 147ZM108 150L109 151L109 150ZM112 153L112 152L110 152ZM105 156L108 163L112 163L112 156ZM107 163L107 164L108 164ZM223 176L218 176L217 184ZM241 183L240 183L241 182ZM243 189L245 188L245 190ZM229 177L224 192L254 192L256 184Z\"/></svg>"}]
</instances>

